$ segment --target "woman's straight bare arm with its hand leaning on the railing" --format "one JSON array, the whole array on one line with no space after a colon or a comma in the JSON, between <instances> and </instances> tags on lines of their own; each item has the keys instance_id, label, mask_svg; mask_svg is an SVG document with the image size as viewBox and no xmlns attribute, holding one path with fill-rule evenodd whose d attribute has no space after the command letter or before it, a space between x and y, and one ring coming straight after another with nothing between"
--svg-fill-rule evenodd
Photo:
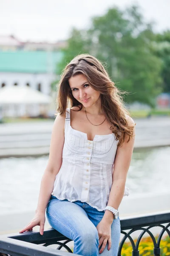
<instances>
[{"instance_id":1,"label":"woman's straight bare arm with its hand leaning on the railing","mask_svg":"<svg viewBox=\"0 0 170 256\"><path fill-rule=\"evenodd\" d=\"M50 152L48 164L42 175L39 199L36 209L36 215L32 221L20 231L32 230L33 227L40 225L40 234L43 234L45 223L45 209L51 197L54 181L62 165L62 149L64 145L64 126L65 115L57 116L51 134Z\"/></svg>"}]
</instances>

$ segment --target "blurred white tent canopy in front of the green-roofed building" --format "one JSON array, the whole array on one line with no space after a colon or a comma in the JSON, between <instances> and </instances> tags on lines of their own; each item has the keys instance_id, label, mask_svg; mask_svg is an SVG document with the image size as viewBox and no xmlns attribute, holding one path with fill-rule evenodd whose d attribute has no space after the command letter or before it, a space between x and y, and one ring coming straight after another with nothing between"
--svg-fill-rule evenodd
<instances>
[{"instance_id":1,"label":"blurred white tent canopy in front of the green-roofed building","mask_svg":"<svg viewBox=\"0 0 170 256\"><path fill-rule=\"evenodd\" d=\"M50 104L52 98L27 86L13 85L0 88L0 105Z\"/></svg>"}]
</instances>

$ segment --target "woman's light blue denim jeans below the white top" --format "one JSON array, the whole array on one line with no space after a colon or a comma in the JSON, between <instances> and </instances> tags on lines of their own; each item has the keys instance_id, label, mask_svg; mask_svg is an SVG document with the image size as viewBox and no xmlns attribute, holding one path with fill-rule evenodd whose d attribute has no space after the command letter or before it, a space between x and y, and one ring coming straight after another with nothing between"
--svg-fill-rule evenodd
<instances>
[{"instance_id":1,"label":"woman's light blue denim jeans below the white top","mask_svg":"<svg viewBox=\"0 0 170 256\"><path fill-rule=\"evenodd\" d=\"M120 241L120 219L111 225L111 249L108 243L99 253L99 236L96 226L102 220L104 211L98 211L81 201L59 200L51 195L46 215L49 224L62 235L74 241L74 253L83 256L117 256Z\"/></svg>"}]
</instances>

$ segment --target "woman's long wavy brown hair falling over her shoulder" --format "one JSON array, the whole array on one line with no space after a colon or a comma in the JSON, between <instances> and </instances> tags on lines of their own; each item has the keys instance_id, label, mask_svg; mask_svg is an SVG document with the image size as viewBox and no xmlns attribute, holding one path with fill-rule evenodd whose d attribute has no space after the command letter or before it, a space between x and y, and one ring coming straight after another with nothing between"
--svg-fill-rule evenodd
<instances>
[{"instance_id":1,"label":"woman's long wavy brown hair falling over her shoulder","mask_svg":"<svg viewBox=\"0 0 170 256\"><path fill-rule=\"evenodd\" d=\"M78 74L83 74L90 86L100 92L101 108L107 119L111 124L110 130L115 134L116 140L119 140L118 146L121 146L125 141L125 135L133 137L133 128L136 125L128 125L127 116L129 112L123 106L122 94L125 92L120 91L111 81L104 64L89 54L77 55L69 64L66 65L62 71L61 79L58 83L57 95L57 113L60 115L65 114L66 108L70 103L71 108L78 106L80 111L83 105L77 101L72 95L72 91L68 80Z\"/></svg>"}]
</instances>

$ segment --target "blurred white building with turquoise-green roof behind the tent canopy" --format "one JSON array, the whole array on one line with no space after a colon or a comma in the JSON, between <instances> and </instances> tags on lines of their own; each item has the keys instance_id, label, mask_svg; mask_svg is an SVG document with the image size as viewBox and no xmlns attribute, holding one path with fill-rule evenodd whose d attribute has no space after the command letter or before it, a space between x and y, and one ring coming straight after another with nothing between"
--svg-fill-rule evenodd
<instances>
[{"instance_id":1,"label":"blurred white building with turquoise-green roof behind the tent canopy","mask_svg":"<svg viewBox=\"0 0 170 256\"><path fill-rule=\"evenodd\" d=\"M17 44L17 42L13 42ZM21 44L19 44L21 47ZM62 58L61 51L8 49L0 51L0 88L8 86L31 87L41 93L51 95L51 83L57 80L57 63ZM14 106L13 106L14 108ZM6 106L6 115L13 116L11 106ZM35 110L35 108L34 108ZM54 109L55 111L55 109ZM20 111L24 113L24 111ZM39 113L36 110L34 113ZM35 115L35 114L34 114Z\"/></svg>"}]
</instances>

